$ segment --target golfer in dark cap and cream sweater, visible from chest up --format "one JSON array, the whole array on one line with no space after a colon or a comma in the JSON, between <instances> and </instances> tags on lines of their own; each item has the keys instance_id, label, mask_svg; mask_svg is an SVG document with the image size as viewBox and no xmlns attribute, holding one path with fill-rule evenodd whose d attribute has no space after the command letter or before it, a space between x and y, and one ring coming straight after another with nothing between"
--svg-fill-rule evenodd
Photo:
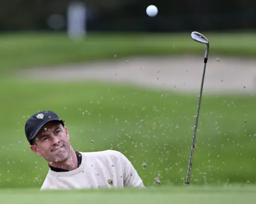
<instances>
[{"instance_id":1,"label":"golfer in dark cap and cream sweater, visible from chest up","mask_svg":"<svg viewBox=\"0 0 256 204\"><path fill-rule=\"evenodd\" d=\"M35 113L26 121L30 149L50 167L41 190L145 187L121 152L74 150L64 122L52 111Z\"/></svg>"}]
</instances>

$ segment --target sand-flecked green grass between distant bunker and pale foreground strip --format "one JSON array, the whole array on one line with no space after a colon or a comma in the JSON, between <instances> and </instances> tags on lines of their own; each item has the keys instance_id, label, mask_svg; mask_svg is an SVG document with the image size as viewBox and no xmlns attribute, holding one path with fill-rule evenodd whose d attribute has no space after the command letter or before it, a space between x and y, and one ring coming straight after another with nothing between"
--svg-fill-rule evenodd
<instances>
[{"instance_id":1,"label":"sand-flecked green grass between distant bunker and pale foreground strip","mask_svg":"<svg viewBox=\"0 0 256 204\"><path fill-rule=\"evenodd\" d=\"M43 109L67 121L75 149L122 151L147 186L155 177L159 186L185 182L197 93L22 80L1 81L0 91L0 188L41 186L49 168L29 149L23 130L28 115ZM204 95L191 183L255 183L255 103L249 95Z\"/></svg>"}]
</instances>

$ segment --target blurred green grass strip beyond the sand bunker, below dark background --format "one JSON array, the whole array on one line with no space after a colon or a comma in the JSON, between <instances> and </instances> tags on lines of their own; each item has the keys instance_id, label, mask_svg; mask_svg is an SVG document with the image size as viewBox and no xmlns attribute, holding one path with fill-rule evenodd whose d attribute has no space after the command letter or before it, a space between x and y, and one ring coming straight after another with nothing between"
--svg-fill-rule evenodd
<instances>
[{"instance_id":1,"label":"blurred green grass strip beyond the sand bunker, below dark background","mask_svg":"<svg viewBox=\"0 0 256 204\"><path fill-rule=\"evenodd\" d=\"M232 56L256 55L255 34L203 33L210 40L210 54ZM130 56L204 54L186 33L89 33L82 41L71 41L65 33L2 33L0 36L0 71ZM114 55L117 55L114 58Z\"/></svg>"}]
</instances>

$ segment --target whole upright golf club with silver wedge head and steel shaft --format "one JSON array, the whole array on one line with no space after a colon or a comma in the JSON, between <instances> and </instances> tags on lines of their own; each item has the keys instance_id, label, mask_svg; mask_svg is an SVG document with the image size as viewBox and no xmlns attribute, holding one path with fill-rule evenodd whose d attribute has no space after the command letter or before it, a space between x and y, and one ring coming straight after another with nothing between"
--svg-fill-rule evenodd
<instances>
[{"instance_id":1,"label":"whole upright golf club with silver wedge head and steel shaft","mask_svg":"<svg viewBox=\"0 0 256 204\"><path fill-rule=\"evenodd\" d=\"M200 89L198 105L197 105L196 121L195 121L194 135L193 135L193 141L191 145L191 151L190 151L190 157L189 157L189 163L188 163L188 173L187 173L186 184L189 184L189 180L190 180L190 172L191 172L192 159L194 155L194 148L195 148L195 141L196 141L198 117L200 112L201 99L202 99L203 86L204 86L204 75L205 75L206 63L208 60L208 54L209 54L209 41L207 40L206 37L204 37L201 33L194 31L191 33L191 38L199 43L206 44L206 46L205 46L205 55L204 55L204 71L203 71L201 89Z\"/></svg>"}]
</instances>

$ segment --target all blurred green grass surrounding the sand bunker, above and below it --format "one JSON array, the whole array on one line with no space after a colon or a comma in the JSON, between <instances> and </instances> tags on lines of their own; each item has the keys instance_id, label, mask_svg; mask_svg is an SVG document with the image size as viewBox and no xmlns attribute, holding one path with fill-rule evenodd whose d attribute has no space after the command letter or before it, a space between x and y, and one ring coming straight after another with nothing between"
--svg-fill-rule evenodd
<instances>
[{"instance_id":1,"label":"all blurred green grass surrounding the sand bunker, above and below it","mask_svg":"<svg viewBox=\"0 0 256 204\"><path fill-rule=\"evenodd\" d=\"M205 32L210 54L254 57L254 33ZM175 43L175 47L173 47ZM182 184L187 174L198 92L185 95L127 84L93 81L35 81L13 75L23 68L114 60L127 56L200 54L190 32L174 34L15 33L0 36L0 187L39 188L49 167L29 149L28 116L51 109L66 120L79 151L122 151L147 186ZM124 60L125 62L125 60ZM202 65L203 64L198 64ZM232 74L232 73L230 73ZM191 183L254 183L255 95L204 95ZM146 163L147 168L142 164Z\"/></svg>"}]
</instances>

